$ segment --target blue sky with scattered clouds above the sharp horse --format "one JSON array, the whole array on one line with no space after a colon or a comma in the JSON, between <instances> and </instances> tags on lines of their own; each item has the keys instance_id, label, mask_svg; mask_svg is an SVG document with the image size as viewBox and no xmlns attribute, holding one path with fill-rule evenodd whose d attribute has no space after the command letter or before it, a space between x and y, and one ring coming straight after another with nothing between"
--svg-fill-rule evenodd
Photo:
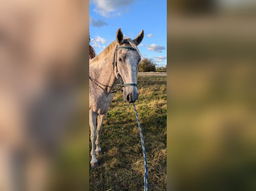
<instances>
[{"instance_id":1,"label":"blue sky with scattered clouds above the sharp horse","mask_svg":"<svg viewBox=\"0 0 256 191\"><path fill-rule=\"evenodd\" d=\"M165 66L166 18L166 0L90 0L90 44L99 54L115 40L119 27L131 39L143 29L140 53L157 66Z\"/></svg>"}]
</instances>

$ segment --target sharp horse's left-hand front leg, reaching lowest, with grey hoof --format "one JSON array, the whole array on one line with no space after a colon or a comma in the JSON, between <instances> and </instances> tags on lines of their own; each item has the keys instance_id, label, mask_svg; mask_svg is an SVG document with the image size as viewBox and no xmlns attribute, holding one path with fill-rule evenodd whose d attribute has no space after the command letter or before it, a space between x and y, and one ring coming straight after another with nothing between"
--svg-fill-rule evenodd
<instances>
[{"instance_id":1,"label":"sharp horse's left-hand front leg, reaching lowest, with grey hoof","mask_svg":"<svg viewBox=\"0 0 256 191\"><path fill-rule=\"evenodd\" d=\"M92 168L96 168L99 166L98 160L95 155L95 141L97 138L96 118L97 118L97 114L90 111L89 112L89 125L90 125L90 130L91 130L91 142L92 142L92 150L91 150L92 160L91 160L90 164L91 164Z\"/></svg>"}]
</instances>

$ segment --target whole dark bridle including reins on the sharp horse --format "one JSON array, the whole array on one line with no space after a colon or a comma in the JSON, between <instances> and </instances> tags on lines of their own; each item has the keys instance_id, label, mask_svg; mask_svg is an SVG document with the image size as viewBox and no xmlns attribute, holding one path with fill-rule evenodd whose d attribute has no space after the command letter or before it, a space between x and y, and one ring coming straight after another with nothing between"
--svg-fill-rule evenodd
<instances>
[{"instance_id":1,"label":"whole dark bridle including reins on the sharp horse","mask_svg":"<svg viewBox=\"0 0 256 191\"><path fill-rule=\"evenodd\" d=\"M133 48L133 47L128 47L128 46L119 46L118 47L118 45L116 45L116 49L115 49L115 52L114 52L114 58L113 58L113 62L112 62L112 64L113 64L113 70L115 69L115 67L116 67L116 76L117 76L117 79L118 79L118 82L119 82L119 84L117 84L117 89L116 90L114 90L114 91L112 91L112 92L108 92L108 91L106 91L104 88L102 88L99 84L99 82L97 82L96 83L96 80L94 80L94 79L92 79L90 76L89 76L89 79L94 83L94 84L96 84L98 87L100 87L102 90L104 90L104 92L107 92L107 93L109 93L109 94L112 94L112 93L115 93L115 92L117 92L118 90L119 91L121 91L121 92L123 92L123 89L122 88L124 88L124 87L137 87L137 84L135 84L135 83L124 83L123 82L123 80L122 80L122 77L121 77L121 75L119 74L119 72L118 72L118 70L117 70L117 60L116 60L116 58L117 58L117 50L118 49L126 49L126 50L131 50L131 51L137 51L135 48ZM105 87L109 87L109 86L106 86L106 85L103 85L103 84L101 84L102 86L105 86Z\"/></svg>"}]
</instances>

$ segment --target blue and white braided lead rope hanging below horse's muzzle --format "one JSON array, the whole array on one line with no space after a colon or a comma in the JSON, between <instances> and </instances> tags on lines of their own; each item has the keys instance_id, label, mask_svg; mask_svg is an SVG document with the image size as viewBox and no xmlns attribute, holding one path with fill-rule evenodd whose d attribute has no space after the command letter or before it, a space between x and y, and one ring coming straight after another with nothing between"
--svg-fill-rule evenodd
<instances>
[{"instance_id":1,"label":"blue and white braided lead rope hanging below horse's muzzle","mask_svg":"<svg viewBox=\"0 0 256 191\"><path fill-rule=\"evenodd\" d=\"M140 139L141 139L141 145L142 145L142 151L143 151L144 169L145 169L144 191L148 191L148 167L147 167L147 158L146 158L146 151L145 151L145 146L144 146L144 140L143 140L143 136L142 136L142 132L141 132L140 121L139 121L139 117L138 117L138 114L137 114L137 110L135 108L135 104L134 103L132 103L132 104L133 104L133 107L134 107L134 111L135 111L137 122L138 122L138 126L139 126Z\"/></svg>"}]
</instances>

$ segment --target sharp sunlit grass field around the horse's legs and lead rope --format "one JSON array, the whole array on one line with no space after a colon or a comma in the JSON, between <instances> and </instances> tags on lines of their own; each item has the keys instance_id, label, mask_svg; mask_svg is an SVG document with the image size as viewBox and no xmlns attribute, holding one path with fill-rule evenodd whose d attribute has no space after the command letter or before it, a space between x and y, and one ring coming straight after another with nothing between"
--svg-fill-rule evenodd
<instances>
[{"instance_id":1,"label":"sharp sunlit grass field around the horse's legs and lead rope","mask_svg":"<svg viewBox=\"0 0 256 191\"><path fill-rule=\"evenodd\" d=\"M149 190L166 190L166 76L137 77L139 98L135 102L145 143ZM144 190L141 140L132 104L121 92L103 123L103 155L99 167L90 168L90 190ZM91 149L91 143L90 143ZM91 155L90 155L91 158ZM88 164L89 165L89 164Z\"/></svg>"}]
</instances>

